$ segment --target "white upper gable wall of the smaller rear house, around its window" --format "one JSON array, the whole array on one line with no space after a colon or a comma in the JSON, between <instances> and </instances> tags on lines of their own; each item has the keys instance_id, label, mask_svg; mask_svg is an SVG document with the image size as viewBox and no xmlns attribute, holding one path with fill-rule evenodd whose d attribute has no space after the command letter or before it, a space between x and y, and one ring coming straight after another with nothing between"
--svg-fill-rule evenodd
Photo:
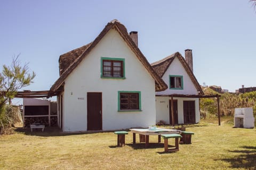
<instances>
[{"instance_id":1,"label":"white upper gable wall of the smaller rear house, around its window","mask_svg":"<svg viewBox=\"0 0 256 170\"><path fill-rule=\"evenodd\" d=\"M170 89L169 75L183 75L183 90ZM164 73L162 79L167 84L168 88L164 91L157 92L157 95L171 95L171 94L182 94L182 95L197 95L197 89L194 83L191 81L188 73L180 63L178 57L175 57L167 71Z\"/></svg>"}]
</instances>

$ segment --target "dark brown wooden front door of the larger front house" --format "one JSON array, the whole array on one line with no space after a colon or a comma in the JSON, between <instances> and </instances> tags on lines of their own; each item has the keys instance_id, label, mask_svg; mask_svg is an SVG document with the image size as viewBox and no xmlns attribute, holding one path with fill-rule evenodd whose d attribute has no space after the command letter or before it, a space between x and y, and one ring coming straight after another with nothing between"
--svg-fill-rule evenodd
<instances>
[{"instance_id":1,"label":"dark brown wooden front door of the larger front house","mask_svg":"<svg viewBox=\"0 0 256 170\"><path fill-rule=\"evenodd\" d=\"M87 130L102 130L102 94L87 93Z\"/></svg>"}]
</instances>

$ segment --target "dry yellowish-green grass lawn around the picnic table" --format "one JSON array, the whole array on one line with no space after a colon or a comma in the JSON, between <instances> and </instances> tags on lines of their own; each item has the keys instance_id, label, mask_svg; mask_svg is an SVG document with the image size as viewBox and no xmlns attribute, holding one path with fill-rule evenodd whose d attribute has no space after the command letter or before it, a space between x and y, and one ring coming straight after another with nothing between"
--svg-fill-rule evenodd
<instances>
[{"instance_id":1,"label":"dry yellowish-green grass lawn around the picnic table","mask_svg":"<svg viewBox=\"0 0 256 170\"><path fill-rule=\"evenodd\" d=\"M116 147L113 132L14 132L0 137L0 169L256 169L256 129L232 128L233 118L187 126L192 144L163 153L162 143ZM137 136L137 142L139 138ZM157 142L157 135L149 142ZM169 139L173 145L174 139Z\"/></svg>"}]
</instances>

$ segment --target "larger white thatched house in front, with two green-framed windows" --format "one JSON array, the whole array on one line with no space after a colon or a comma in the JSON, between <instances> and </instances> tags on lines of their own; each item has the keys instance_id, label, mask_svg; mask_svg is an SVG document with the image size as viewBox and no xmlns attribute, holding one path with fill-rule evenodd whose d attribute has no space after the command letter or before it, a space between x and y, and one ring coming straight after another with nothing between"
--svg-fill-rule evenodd
<instances>
[{"instance_id":1,"label":"larger white thatched house in front, with two green-framed windows","mask_svg":"<svg viewBox=\"0 0 256 170\"><path fill-rule=\"evenodd\" d=\"M63 131L156 123L155 92L167 86L140 52L137 37L113 20L92 43L60 56L60 77L50 91L58 94Z\"/></svg>"}]
</instances>

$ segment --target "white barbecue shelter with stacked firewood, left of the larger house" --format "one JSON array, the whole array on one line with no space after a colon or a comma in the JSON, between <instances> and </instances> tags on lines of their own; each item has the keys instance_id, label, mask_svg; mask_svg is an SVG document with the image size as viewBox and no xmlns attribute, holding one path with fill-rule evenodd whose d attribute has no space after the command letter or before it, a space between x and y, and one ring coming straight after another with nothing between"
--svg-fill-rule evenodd
<instances>
[{"instance_id":1,"label":"white barbecue shelter with stacked firewood, left of the larger house","mask_svg":"<svg viewBox=\"0 0 256 170\"><path fill-rule=\"evenodd\" d=\"M23 127L39 123L58 126L57 102L35 98L23 98Z\"/></svg>"}]
</instances>

